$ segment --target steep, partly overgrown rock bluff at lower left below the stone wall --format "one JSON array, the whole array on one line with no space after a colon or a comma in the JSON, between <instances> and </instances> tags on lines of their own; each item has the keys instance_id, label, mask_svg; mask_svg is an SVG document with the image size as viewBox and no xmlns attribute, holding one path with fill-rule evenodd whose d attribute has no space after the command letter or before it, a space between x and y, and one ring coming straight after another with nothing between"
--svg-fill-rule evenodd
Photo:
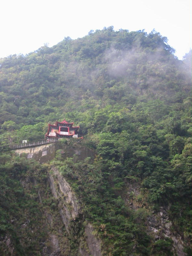
<instances>
[{"instance_id":1,"label":"steep, partly overgrown rock bluff at lower left below the stone wall","mask_svg":"<svg viewBox=\"0 0 192 256\"><path fill-rule=\"evenodd\" d=\"M1 172L1 255L100 255L100 241L56 168L29 167L21 158Z\"/></svg>"}]
</instances>

